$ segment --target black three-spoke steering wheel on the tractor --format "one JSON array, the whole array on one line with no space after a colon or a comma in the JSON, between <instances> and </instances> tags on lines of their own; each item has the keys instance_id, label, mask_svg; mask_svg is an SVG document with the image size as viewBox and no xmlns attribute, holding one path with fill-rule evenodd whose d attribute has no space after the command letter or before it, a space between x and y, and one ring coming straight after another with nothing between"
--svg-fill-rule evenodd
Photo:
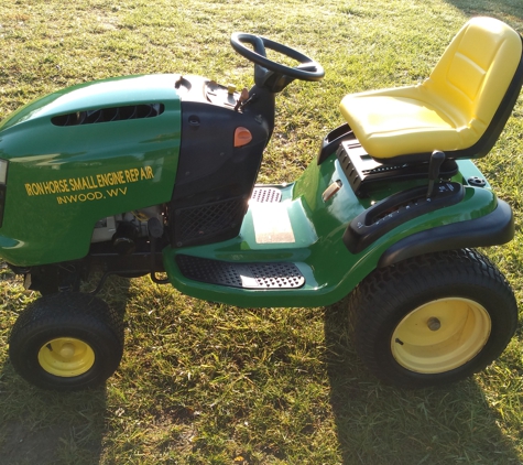
<instances>
[{"instance_id":1,"label":"black three-spoke steering wheel on the tractor","mask_svg":"<svg viewBox=\"0 0 523 465\"><path fill-rule=\"evenodd\" d=\"M244 45L244 43L251 44L254 50L251 50ZM309 58L307 55L283 45L279 42L271 41L270 39L261 37L259 35L247 34L243 32L235 32L230 37L230 44L241 56L244 56L250 62L262 66L264 75L266 71L272 71L280 76L286 76L292 79L301 80L320 80L325 76L323 66ZM265 48L273 50L282 55L288 56L295 60L299 65L295 67L286 66L281 63L273 62L266 57ZM261 80L265 80L266 76L260 76L255 69L255 80L260 77ZM272 73L271 73L272 74ZM291 79L291 80L292 80ZM258 83L257 83L258 84Z\"/></svg>"}]
</instances>

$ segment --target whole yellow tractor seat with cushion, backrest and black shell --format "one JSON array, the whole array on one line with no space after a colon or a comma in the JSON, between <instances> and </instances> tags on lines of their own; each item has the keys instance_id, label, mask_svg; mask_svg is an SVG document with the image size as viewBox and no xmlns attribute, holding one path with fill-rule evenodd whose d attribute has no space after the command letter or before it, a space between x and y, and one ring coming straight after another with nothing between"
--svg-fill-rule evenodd
<instances>
[{"instance_id":1,"label":"whole yellow tractor seat with cushion, backrest and black shell","mask_svg":"<svg viewBox=\"0 0 523 465\"><path fill-rule=\"evenodd\" d=\"M422 84L347 95L341 113L381 163L479 158L495 143L523 83L522 37L492 18L473 18Z\"/></svg>"}]
</instances>

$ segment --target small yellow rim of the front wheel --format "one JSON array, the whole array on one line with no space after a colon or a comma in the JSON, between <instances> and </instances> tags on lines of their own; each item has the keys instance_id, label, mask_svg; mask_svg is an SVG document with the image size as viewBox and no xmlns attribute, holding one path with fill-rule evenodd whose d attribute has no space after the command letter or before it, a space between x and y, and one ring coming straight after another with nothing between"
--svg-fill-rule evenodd
<instances>
[{"instance_id":1,"label":"small yellow rim of the front wheel","mask_svg":"<svg viewBox=\"0 0 523 465\"><path fill-rule=\"evenodd\" d=\"M87 372L95 364L90 346L73 337L58 337L42 346L40 366L51 375L70 378Z\"/></svg>"}]
</instances>

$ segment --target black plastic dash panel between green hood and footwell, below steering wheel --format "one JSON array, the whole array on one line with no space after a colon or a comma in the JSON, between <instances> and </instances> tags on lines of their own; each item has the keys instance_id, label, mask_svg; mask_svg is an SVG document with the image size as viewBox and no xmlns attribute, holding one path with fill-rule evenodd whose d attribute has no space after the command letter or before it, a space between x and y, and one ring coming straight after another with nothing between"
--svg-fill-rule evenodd
<instances>
[{"instance_id":1,"label":"black plastic dash panel between green hood and footwell, below steering wheel","mask_svg":"<svg viewBox=\"0 0 523 465\"><path fill-rule=\"evenodd\" d=\"M198 77L190 77L189 84L192 91L182 98L182 143L168 224L176 247L239 234L272 130L261 108L272 111L274 120L274 95L260 100L260 107L252 102L235 111L225 87ZM218 95L216 102L207 99L209 89ZM235 147L239 127L247 128L252 140Z\"/></svg>"}]
</instances>

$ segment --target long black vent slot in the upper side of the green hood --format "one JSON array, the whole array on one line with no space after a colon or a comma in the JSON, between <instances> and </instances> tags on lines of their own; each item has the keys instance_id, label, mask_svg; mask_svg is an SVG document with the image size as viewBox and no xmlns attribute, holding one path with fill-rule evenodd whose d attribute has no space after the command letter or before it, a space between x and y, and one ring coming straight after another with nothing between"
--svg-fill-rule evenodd
<instances>
[{"instance_id":1,"label":"long black vent slot in the upper side of the green hood","mask_svg":"<svg viewBox=\"0 0 523 465\"><path fill-rule=\"evenodd\" d=\"M94 125L97 122L123 121L129 119L154 118L163 113L163 104L141 104L126 107L98 108L61 115L51 119L55 126Z\"/></svg>"}]
</instances>

